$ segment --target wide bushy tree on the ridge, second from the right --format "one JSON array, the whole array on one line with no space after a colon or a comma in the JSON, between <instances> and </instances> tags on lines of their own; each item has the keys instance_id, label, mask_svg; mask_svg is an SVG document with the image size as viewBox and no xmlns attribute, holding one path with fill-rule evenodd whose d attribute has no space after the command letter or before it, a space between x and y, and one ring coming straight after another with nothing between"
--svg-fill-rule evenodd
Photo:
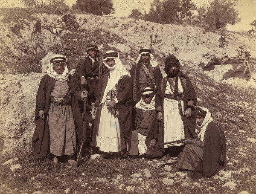
<instances>
[{"instance_id":1,"label":"wide bushy tree on the ridge, second from the right","mask_svg":"<svg viewBox=\"0 0 256 194\"><path fill-rule=\"evenodd\" d=\"M145 20L156 23L183 23L192 18L192 11L196 9L191 0L154 0Z\"/></svg>"}]
</instances>

